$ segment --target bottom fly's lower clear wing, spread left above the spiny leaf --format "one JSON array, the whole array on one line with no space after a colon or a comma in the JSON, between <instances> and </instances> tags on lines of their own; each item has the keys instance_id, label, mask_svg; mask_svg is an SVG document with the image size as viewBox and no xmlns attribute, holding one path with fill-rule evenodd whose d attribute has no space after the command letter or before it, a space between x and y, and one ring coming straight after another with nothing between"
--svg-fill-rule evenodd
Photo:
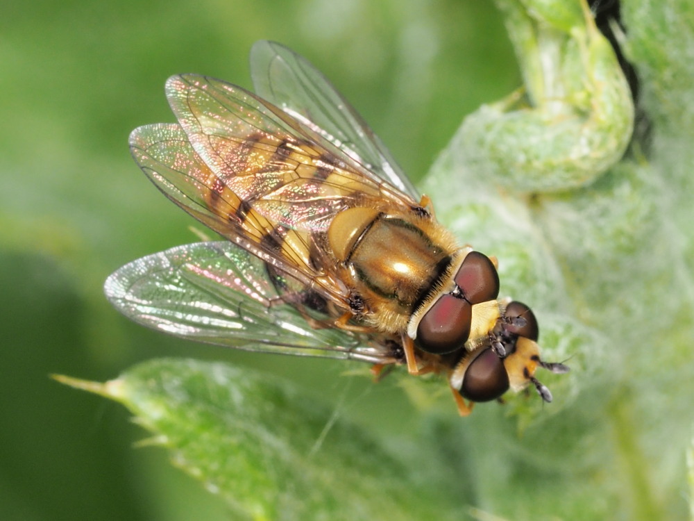
<instances>
[{"instance_id":1,"label":"bottom fly's lower clear wing, spread left above the spiny leaf","mask_svg":"<svg viewBox=\"0 0 694 521\"><path fill-rule=\"evenodd\" d=\"M199 242L121 267L104 290L127 317L183 338L257 352L396 361L364 336L313 329L306 317L320 315L319 306L302 305L306 293L289 303L291 295L281 288L303 286L273 276L263 261L230 242Z\"/></svg>"}]
</instances>

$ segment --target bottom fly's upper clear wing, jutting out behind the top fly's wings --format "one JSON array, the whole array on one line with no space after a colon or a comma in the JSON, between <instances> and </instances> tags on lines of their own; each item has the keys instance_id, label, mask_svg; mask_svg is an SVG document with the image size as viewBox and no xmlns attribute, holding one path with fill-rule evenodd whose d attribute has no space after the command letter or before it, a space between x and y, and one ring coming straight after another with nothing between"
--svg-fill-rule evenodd
<instances>
[{"instance_id":1,"label":"bottom fly's upper clear wing, jutting out behind the top fly's wings","mask_svg":"<svg viewBox=\"0 0 694 521\"><path fill-rule=\"evenodd\" d=\"M347 156L418 201L420 192L357 111L311 63L276 42L251 49L255 93L310 126Z\"/></svg>"}]
</instances>

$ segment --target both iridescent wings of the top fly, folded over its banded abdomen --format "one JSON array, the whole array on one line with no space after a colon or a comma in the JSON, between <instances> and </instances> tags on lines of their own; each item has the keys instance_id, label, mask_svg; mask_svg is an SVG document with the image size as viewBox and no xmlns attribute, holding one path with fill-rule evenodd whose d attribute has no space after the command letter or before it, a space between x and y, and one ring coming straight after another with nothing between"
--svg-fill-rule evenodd
<instances>
[{"instance_id":1,"label":"both iridescent wings of the top fly, folded over its banded abdomen","mask_svg":"<svg viewBox=\"0 0 694 521\"><path fill-rule=\"evenodd\" d=\"M198 220L343 309L325 234L353 206L403 211L417 203L319 133L235 85L183 75L167 82L179 125L130 136L137 163Z\"/></svg>"}]
</instances>

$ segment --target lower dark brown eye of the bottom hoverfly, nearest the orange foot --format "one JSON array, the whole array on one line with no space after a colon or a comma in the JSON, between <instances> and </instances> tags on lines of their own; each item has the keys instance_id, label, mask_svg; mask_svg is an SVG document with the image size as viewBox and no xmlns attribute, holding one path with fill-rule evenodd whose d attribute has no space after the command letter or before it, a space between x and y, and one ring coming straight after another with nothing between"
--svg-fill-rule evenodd
<instances>
[{"instance_id":1,"label":"lower dark brown eye of the bottom hoverfly, nearest the orange foot","mask_svg":"<svg viewBox=\"0 0 694 521\"><path fill-rule=\"evenodd\" d=\"M460 394L473 402L489 402L509 389L509 374L491 347L477 354L468 365Z\"/></svg>"}]
</instances>

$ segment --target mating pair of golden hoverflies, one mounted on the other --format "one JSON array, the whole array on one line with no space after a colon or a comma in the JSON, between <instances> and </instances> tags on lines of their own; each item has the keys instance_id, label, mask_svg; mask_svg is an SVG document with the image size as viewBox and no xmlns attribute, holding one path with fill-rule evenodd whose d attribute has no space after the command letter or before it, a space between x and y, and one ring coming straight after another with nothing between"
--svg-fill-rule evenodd
<instances>
[{"instance_id":1,"label":"mating pair of golden hoverflies, one mounted on the other","mask_svg":"<svg viewBox=\"0 0 694 521\"><path fill-rule=\"evenodd\" d=\"M498 299L496 260L434 218L369 126L307 60L251 51L255 94L169 78L178 124L135 129L135 161L225 238L129 263L105 293L133 320L257 352L445 375L459 413L534 385L547 363L527 306ZM466 402L468 400L468 402Z\"/></svg>"}]
</instances>

